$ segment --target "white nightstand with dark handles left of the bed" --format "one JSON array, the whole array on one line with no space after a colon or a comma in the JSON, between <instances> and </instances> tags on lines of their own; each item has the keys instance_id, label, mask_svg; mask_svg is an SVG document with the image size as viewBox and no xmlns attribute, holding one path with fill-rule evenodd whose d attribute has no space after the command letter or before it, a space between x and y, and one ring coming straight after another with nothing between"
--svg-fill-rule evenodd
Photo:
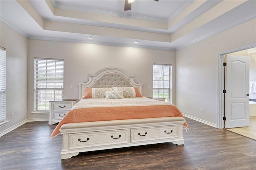
<instances>
[{"instance_id":1,"label":"white nightstand with dark handles left of the bed","mask_svg":"<svg viewBox=\"0 0 256 170\"><path fill-rule=\"evenodd\" d=\"M50 102L49 125L59 123L70 109L78 102L78 99L61 99Z\"/></svg>"}]
</instances>

